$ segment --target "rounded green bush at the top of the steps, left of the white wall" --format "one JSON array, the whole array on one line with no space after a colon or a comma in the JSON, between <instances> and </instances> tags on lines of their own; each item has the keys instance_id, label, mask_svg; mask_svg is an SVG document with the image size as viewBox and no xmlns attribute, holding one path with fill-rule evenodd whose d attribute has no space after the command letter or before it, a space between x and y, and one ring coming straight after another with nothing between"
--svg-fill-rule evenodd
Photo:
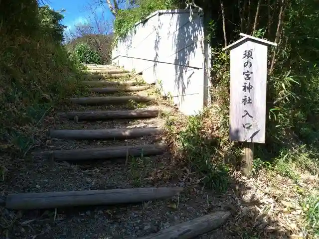
<instances>
[{"instance_id":1,"label":"rounded green bush at the top of the steps, left of the white wall","mask_svg":"<svg viewBox=\"0 0 319 239\"><path fill-rule=\"evenodd\" d=\"M70 57L79 63L102 64L100 54L86 43L78 43L70 51Z\"/></svg>"}]
</instances>

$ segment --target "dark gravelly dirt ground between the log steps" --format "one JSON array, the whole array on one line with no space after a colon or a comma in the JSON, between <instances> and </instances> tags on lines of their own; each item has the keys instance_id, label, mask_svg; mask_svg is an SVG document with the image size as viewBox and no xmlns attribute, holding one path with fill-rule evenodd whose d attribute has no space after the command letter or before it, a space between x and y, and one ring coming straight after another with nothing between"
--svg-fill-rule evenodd
<instances>
[{"instance_id":1,"label":"dark gravelly dirt ground between the log steps","mask_svg":"<svg viewBox=\"0 0 319 239\"><path fill-rule=\"evenodd\" d=\"M125 78L127 79L127 78ZM154 96L153 86L137 92L111 94ZM90 96L106 96L92 93ZM110 96L110 94L108 95ZM82 96L87 97L87 96ZM129 103L118 106L69 105L66 111L105 111L131 109L159 109L174 111L159 102ZM150 119L114 119L82 121L50 114L42 125L41 140L30 152L30 157L10 171L11 192L54 192L73 190L101 190L138 187L183 187L184 191L170 199L156 200L132 205L77 207L52 210L9 211L3 209L2 216L10 224L8 238L15 239L118 239L137 238L177 223L189 221L214 210L225 208L224 202L231 195L216 197L212 192L190 183L182 177L184 172L167 172L171 155L167 151L160 155L119 158L112 160L90 160L88 162L55 162L38 156L45 150L87 149L107 146L148 145L164 143L161 135L143 136L126 140L72 140L52 138L48 129L121 129L135 127L163 127L160 117ZM32 154L31 154L32 153ZM32 155L35 155L33 157ZM11 222L10 222L11 220ZM203 239L227 238L224 228L202 236Z\"/></svg>"}]
</instances>

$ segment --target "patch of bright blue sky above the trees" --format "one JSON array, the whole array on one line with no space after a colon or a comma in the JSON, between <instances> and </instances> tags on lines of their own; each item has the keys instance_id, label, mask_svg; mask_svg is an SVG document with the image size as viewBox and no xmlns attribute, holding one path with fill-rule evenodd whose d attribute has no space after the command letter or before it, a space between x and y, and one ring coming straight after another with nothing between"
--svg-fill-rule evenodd
<instances>
[{"instance_id":1,"label":"patch of bright blue sky above the trees","mask_svg":"<svg viewBox=\"0 0 319 239\"><path fill-rule=\"evenodd\" d=\"M48 0L49 4L54 10L65 9L64 19L62 24L67 26L67 29L74 29L74 25L83 24L87 22L87 18L93 15L93 12L96 14L101 14L104 12L105 18L110 21L112 25L113 15L107 7L104 6L95 6L90 9L90 5L95 0Z\"/></svg>"}]
</instances>

